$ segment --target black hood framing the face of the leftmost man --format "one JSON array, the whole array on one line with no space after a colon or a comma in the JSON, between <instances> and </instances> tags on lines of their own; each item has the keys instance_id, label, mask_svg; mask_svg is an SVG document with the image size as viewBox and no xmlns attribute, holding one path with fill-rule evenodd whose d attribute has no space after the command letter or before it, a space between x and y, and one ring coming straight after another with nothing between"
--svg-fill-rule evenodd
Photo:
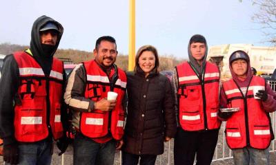
<instances>
[{"instance_id":1,"label":"black hood framing the face of the leftmost man","mask_svg":"<svg viewBox=\"0 0 276 165\"><path fill-rule=\"evenodd\" d=\"M50 54L43 50L39 34L39 30L41 29L41 27L48 22L55 23L55 25L57 25L57 28L59 28L55 49L53 49ZM34 24L32 25L30 50L32 52L32 55L34 56L34 59L39 63L39 65L41 65L43 72L45 74L50 74L50 69L52 67L52 57L57 51L57 47L59 46L59 41L61 40L62 34L62 25L54 19L47 16L39 17L36 21L34 21Z\"/></svg>"}]
</instances>

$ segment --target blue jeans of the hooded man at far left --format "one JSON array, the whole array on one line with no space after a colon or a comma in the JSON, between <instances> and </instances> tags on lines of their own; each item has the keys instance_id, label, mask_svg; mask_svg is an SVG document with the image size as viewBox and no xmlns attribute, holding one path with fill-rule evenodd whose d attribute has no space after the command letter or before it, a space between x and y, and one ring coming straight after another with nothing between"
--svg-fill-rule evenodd
<instances>
[{"instance_id":1,"label":"blue jeans of the hooded man at far left","mask_svg":"<svg viewBox=\"0 0 276 165\"><path fill-rule=\"evenodd\" d=\"M19 165L50 165L52 139L34 143L19 143ZM8 163L5 163L8 165Z\"/></svg>"}]
</instances>

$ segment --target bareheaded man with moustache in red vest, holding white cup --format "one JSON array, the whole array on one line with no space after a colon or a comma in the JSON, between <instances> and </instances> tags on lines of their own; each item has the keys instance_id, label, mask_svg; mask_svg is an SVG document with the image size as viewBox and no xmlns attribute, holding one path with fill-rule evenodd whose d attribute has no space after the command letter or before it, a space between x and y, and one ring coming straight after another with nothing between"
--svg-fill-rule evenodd
<instances>
[{"instance_id":1,"label":"bareheaded man with moustache in red vest, holding white cup","mask_svg":"<svg viewBox=\"0 0 276 165\"><path fill-rule=\"evenodd\" d=\"M101 36L93 51L95 59L72 70L64 99L72 110L74 164L113 164L115 149L124 134L126 74L115 65L117 45L112 36ZM108 91L118 94L107 100Z\"/></svg>"}]
</instances>

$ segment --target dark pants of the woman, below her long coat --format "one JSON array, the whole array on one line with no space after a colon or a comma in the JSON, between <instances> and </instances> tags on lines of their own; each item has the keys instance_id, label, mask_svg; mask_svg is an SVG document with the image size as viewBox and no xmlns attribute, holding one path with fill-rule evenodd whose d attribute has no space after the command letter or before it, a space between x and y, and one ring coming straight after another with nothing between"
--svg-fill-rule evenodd
<instances>
[{"instance_id":1,"label":"dark pants of the woman, below her long coat","mask_svg":"<svg viewBox=\"0 0 276 165\"><path fill-rule=\"evenodd\" d=\"M135 155L123 152L123 165L137 165L140 159L140 165L155 165L157 155Z\"/></svg>"}]
</instances>

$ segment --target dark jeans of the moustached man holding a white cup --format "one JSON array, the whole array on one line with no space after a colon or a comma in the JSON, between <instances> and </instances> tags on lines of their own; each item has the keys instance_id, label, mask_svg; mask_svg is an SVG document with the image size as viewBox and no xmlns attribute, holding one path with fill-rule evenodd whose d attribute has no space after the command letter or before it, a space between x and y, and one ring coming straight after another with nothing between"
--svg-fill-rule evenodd
<instances>
[{"instance_id":1,"label":"dark jeans of the moustached man holding a white cup","mask_svg":"<svg viewBox=\"0 0 276 165\"><path fill-rule=\"evenodd\" d=\"M112 165L115 157L115 140L97 143L89 137L77 133L74 140L74 164Z\"/></svg>"}]
</instances>

